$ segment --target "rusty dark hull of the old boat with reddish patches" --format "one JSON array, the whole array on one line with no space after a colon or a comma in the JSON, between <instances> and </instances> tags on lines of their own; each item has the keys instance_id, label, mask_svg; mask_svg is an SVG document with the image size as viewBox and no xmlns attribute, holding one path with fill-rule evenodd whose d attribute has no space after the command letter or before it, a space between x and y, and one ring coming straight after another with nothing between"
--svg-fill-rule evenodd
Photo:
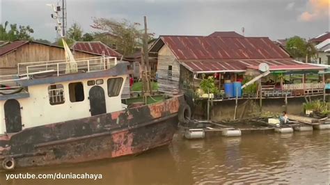
<instances>
[{"instance_id":1,"label":"rusty dark hull of the old boat with reddish patches","mask_svg":"<svg viewBox=\"0 0 330 185\"><path fill-rule=\"evenodd\" d=\"M0 160L15 168L80 163L139 154L171 143L182 95L124 111L57 122L0 137Z\"/></svg>"}]
</instances>

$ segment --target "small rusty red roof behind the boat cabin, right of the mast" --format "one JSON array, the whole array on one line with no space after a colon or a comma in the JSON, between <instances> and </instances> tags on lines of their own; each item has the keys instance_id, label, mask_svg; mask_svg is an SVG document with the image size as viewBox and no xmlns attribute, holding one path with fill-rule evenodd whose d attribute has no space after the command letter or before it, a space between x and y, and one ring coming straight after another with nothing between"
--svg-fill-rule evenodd
<instances>
[{"instance_id":1,"label":"small rusty red roof behind the boat cabin, right of the mast","mask_svg":"<svg viewBox=\"0 0 330 185\"><path fill-rule=\"evenodd\" d=\"M104 45L101 41L92 41L92 42L75 42L72 45L72 49L77 51L86 51L91 54L98 54L100 56L116 56L120 58L122 54L118 53L117 51L111 49L109 46Z\"/></svg>"}]
</instances>

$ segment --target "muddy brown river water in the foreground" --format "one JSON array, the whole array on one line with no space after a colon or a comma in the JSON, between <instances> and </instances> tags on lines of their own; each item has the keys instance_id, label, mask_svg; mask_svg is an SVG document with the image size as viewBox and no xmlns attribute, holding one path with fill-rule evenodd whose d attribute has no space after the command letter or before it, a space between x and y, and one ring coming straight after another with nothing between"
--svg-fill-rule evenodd
<instances>
[{"instance_id":1,"label":"muddy brown river water in the foreground","mask_svg":"<svg viewBox=\"0 0 330 185\"><path fill-rule=\"evenodd\" d=\"M102 179L11 179L0 184L329 184L330 131L184 140L140 154L15 173L100 173Z\"/></svg>"}]
</instances>

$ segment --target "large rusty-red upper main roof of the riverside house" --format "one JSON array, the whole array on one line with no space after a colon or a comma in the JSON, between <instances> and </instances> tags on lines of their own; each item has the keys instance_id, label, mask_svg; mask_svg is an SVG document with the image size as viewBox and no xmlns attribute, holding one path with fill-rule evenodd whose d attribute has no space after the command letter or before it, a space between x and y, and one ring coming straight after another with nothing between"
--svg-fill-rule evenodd
<instances>
[{"instance_id":1,"label":"large rusty-red upper main roof of the riverside house","mask_svg":"<svg viewBox=\"0 0 330 185\"><path fill-rule=\"evenodd\" d=\"M290 55L269 38L160 36L178 60L283 59Z\"/></svg>"}]
</instances>

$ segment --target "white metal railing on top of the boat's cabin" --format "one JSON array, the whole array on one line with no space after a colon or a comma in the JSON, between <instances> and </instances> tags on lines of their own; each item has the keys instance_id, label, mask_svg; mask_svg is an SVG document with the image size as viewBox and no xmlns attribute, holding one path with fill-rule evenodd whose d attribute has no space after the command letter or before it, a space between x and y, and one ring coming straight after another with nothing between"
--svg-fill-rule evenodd
<instances>
[{"instance_id":1,"label":"white metal railing on top of the boat's cabin","mask_svg":"<svg viewBox=\"0 0 330 185\"><path fill-rule=\"evenodd\" d=\"M73 62L61 61L42 61L34 63L19 63L17 72L19 77L29 77L34 74L54 73L56 76L67 74L68 68L74 66L77 72L95 72L107 70L117 64L117 58L112 56L81 58ZM71 69L72 70L72 69Z\"/></svg>"}]
</instances>

